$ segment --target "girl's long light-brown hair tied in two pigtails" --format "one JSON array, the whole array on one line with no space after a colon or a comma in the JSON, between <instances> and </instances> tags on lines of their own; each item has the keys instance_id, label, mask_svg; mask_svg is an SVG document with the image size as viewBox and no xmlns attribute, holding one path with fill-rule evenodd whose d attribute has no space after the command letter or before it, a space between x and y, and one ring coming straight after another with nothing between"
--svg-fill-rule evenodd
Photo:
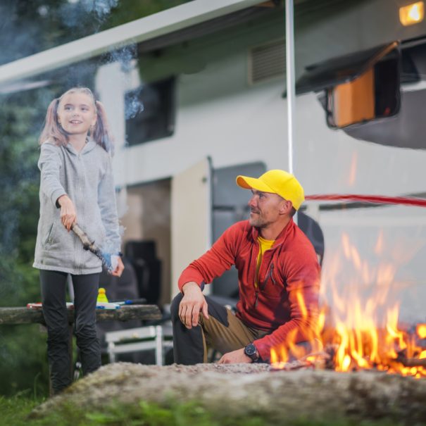
<instances>
[{"instance_id":1,"label":"girl's long light-brown hair tied in two pigtails","mask_svg":"<svg viewBox=\"0 0 426 426\"><path fill-rule=\"evenodd\" d=\"M68 134L58 123L58 107L61 104L63 96L71 93L84 93L92 99L97 118L96 124L94 128L91 128L89 134L96 144L102 146L106 152L113 154L114 141L106 118L105 108L101 102L96 101L92 90L87 87L73 87L62 94L61 97L51 101L47 108L46 120L44 120L44 128L39 137L39 144L44 144L48 140L54 142L56 145L66 146L68 144Z\"/></svg>"}]
</instances>

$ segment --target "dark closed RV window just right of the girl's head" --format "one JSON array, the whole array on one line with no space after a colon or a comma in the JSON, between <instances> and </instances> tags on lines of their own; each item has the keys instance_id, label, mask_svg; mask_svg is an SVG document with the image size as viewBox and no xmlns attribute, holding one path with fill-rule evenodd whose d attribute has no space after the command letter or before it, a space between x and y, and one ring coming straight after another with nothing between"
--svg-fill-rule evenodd
<instances>
[{"instance_id":1,"label":"dark closed RV window just right of the girl's head","mask_svg":"<svg viewBox=\"0 0 426 426\"><path fill-rule=\"evenodd\" d=\"M125 113L129 145L171 136L175 130L175 77L127 92Z\"/></svg>"}]
</instances>

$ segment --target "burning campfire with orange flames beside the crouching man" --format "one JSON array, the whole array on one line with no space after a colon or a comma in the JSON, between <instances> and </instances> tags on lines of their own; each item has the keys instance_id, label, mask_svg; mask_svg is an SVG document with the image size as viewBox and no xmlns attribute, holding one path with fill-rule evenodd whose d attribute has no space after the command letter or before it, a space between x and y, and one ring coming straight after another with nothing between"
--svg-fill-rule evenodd
<instances>
[{"instance_id":1,"label":"burning campfire with orange flames beside the crouching man","mask_svg":"<svg viewBox=\"0 0 426 426\"><path fill-rule=\"evenodd\" d=\"M375 251L382 249L382 234ZM339 254L351 263L353 281L342 287L337 282ZM377 370L426 377L426 324L401 325L399 301L395 297L396 266L381 262L372 268L363 261L347 234L342 234L342 251L331 258L322 275L324 303L317 330L311 330L309 345L295 344L272 349L273 369L331 369L339 372ZM347 275L347 274L346 274ZM339 285L340 284L340 285ZM298 295L301 312L306 307ZM308 334L309 336L309 334ZM320 339L315 337L320 336Z\"/></svg>"}]
</instances>

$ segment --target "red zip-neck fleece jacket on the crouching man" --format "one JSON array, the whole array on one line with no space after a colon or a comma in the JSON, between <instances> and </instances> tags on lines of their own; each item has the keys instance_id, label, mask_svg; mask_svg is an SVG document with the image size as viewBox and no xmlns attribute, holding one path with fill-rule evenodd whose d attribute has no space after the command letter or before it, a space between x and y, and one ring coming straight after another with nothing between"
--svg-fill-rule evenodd
<instances>
[{"instance_id":1,"label":"red zip-neck fleece jacket on the crouching man","mask_svg":"<svg viewBox=\"0 0 426 426\"><path fill-rule=\"evenodd\" d=\"M287 339L294 343L312 339L318 318L320 265L311 242L290 220L271 249L263 253L256 290L257 237L258 230L249 220L235 223L182 272L179 289L190 281L202 287L235 265L237 317L248 327L270 332L253 342L263 361L268 361L270 349Z\"/></svg>"}]
</instances>

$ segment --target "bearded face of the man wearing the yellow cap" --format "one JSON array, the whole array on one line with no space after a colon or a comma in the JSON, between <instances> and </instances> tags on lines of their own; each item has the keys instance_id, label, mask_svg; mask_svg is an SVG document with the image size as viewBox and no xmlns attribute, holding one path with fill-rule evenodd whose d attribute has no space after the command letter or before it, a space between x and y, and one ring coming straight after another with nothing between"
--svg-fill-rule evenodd
<instances>
[{"instance_id":1,"label":"bearded face of the man wearing the yellow cap","mask_svg":"<svg viewBox=\"0 0 426 426\"><path fill-rule=\"evenodd\" d=\"M265 228L282 218L283 208L290 203L278 194L256 191L251 189L252 196L249 201L251 226Z\"/></svg>"}]
</instances>

